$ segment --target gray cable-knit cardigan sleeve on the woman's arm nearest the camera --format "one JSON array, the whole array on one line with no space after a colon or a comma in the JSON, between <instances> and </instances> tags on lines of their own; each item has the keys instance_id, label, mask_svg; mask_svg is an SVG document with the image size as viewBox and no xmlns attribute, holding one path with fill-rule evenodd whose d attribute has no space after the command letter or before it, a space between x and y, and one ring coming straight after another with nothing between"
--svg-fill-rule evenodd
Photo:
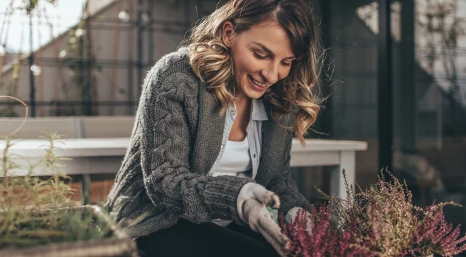
<instances>
[{"instance_id":1,"label":"gray cable-knit cardigan sleeve on the woman's arm nearest the camera","mask_svg":"<svg viewBox=\"0 0 466 257\"><path fill-rule=\"evenodd\" d=\"M138 110L141 122L141 166L147 195L156 206L190 220L240 221L236 198L249 178L210 177L190 170L190 128L185 96L195 92L187 75L174 73L161 85L150 74ZM199 128L201 129L201 128Z\"/></svg>"}]
</instances>

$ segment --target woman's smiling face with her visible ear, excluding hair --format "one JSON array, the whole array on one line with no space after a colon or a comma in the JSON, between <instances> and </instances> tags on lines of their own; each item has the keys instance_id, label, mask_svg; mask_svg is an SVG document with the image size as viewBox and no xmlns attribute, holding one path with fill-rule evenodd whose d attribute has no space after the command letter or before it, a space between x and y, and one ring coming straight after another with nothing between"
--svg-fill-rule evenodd
<instances>
[{"instance_id":1,"label":"woman's smiling face with her visible ear, excluding hair","mask_svg":"<svg viewBox=\"0 0 466 257\"><path fill-rule=\"evenodd\" d=\"M244 96L258 99L267 88L287 77L296 59L287 32L275 21L252 26L237 34L225 21L222 39L231 48L235 79Z\"/></svg>"}]
</instances>

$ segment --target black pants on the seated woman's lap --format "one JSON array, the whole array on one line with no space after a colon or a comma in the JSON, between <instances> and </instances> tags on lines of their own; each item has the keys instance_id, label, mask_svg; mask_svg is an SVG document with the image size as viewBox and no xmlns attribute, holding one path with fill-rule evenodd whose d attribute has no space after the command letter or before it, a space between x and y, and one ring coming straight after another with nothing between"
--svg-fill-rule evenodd
<instances>
[{"instance_id":1,"label":"black pants on the seated woman's lap","mask_svg":"<svg viewBox=\"0 0 466 257\"><path fill-rule=\"evenodd\" d=\"M139 254L145 256L276 257L276 251L261 234L232 223L221 227L179 220L169 229L136 238Z\"/></svg>"}]
</instances>

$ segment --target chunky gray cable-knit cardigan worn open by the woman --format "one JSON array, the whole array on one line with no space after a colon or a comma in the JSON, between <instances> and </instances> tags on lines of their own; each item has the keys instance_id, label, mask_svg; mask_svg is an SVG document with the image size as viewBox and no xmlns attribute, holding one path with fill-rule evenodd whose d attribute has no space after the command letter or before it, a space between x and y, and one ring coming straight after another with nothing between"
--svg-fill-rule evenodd
<instances>
[{"instance_id":1,"label":"chunky gray cable-knit cardigan worn open by the woman","mask_svg":"<svg viewBox=\"0 0 466 257\"><path fill-rule=\"evenodd\" d=\"M236 198L247 182L277 193L279 213L310 208L290 178L293 134L278 126L267 102L265 108L269 120L262 125L256 180L208 176L222 144L225 115L192 72L187 48L162 57L145 78L131 141L105 204L118 224L133 237L168 228L179 218L245 225Z\"/></svg>"}]
</instances>

